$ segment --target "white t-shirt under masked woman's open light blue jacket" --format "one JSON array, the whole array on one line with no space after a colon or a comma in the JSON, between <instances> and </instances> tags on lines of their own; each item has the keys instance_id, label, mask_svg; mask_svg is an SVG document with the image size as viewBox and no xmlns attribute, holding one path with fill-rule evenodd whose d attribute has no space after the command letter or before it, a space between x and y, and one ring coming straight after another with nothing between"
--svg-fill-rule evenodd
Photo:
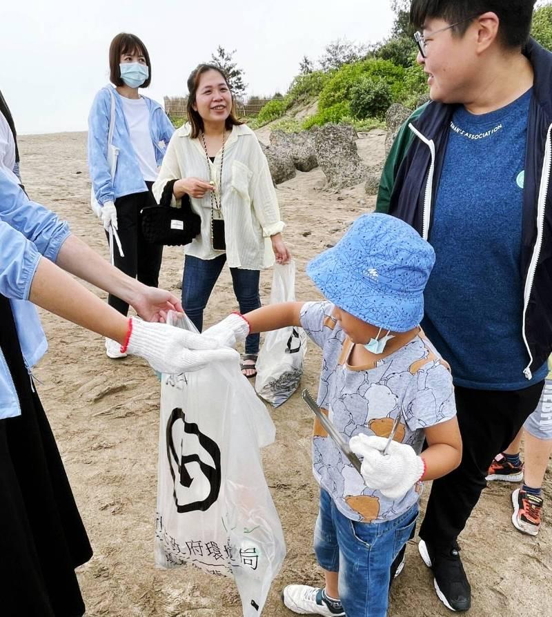
<instances>
[{"instance_id":1,"label":"white t-shirt under masked woman's open light blue jacket","mask_svg":"<svg viewBox=\"0 0 552 617\"><path fill-rule=\"evenodd\" d=\"M146 182L157 179L157 162L150 135L150 110L146 101L121 97L123 111L128 124L130 143L138 158L140 171Z\"/></svg>"}]
</instances>

